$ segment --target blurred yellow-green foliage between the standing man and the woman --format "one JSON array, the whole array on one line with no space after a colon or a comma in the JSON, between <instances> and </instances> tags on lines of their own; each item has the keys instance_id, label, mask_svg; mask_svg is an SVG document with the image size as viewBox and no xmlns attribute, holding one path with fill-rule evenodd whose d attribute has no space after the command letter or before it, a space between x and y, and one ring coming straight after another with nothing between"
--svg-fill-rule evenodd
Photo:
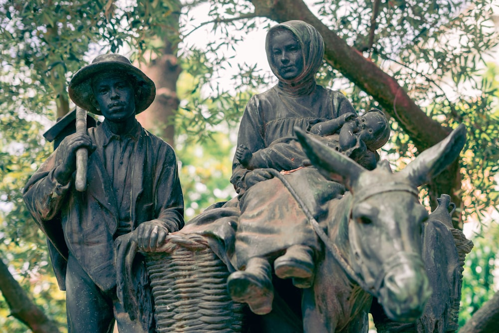
<instances>
[{"instance_id":1,"label":"blurred yellow-green foliage between the standing man and the woman","mask_svg":"<svg viewBox=\"0 0 499 333\"><path fill-rule=\"evenodd\" d=\"M235 126L250 96L248 92L233 96L218 91L215 96L201 97L213 66L199 51L192 51L182 61L182 68L177 82L181 104L175 117L175 151L182 166L180 180L189 220L211 204L235 196L229 182Z\"/></svg>"}]
</instances>

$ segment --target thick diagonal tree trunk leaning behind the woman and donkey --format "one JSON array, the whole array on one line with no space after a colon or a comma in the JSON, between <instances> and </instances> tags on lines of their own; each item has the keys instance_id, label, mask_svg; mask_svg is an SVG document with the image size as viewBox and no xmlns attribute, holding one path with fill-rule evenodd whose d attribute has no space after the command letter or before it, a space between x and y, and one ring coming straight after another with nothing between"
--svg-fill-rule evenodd
<instances>
[{"instance_id":1,"label":"thick diagonal tree trunk leaning behind the woman and donkey","mask_svg":"<svg viewBox=\"0 0 499 333\"><path fill-rule=\"evenodd\" d=\"M324 39L326 61L373 96L409 135L419 152L440 142L450 133L449 128L443 127L421 110L397 80L349 46L322 23L302 0L251 0L251 2L258 16L268 17L277 22L301 19L313 25ZM433 209L437 206L437 198L443 193L451 195L456 206L461 207L461 177L458 162L436 177L429 188ZM455 227L462 228L461 217Z\"/></svg>"}]
</instances>

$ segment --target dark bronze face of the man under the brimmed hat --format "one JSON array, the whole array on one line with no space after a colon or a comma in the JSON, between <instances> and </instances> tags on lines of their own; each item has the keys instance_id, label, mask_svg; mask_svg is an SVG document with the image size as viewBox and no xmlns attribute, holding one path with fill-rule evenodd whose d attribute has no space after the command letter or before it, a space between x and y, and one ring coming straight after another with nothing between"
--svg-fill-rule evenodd
<instances>
[{"instance_id":1,"label":"dark bronze face of the man under the brimmed hat","mask_svg":"<svg viewBox=\"0 0 499 333\"><path fill-rule=\"evenodd\" d=\"M135 117L135 95L126 75L102 75L94 80L92 89L97 108L110 121L121 122Z\"/></svg>"}]
</instances>

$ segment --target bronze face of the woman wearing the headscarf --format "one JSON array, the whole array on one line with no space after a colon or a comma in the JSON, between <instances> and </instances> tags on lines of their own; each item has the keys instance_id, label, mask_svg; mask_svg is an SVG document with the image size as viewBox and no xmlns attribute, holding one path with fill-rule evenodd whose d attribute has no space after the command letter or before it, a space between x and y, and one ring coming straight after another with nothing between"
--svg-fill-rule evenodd
<instances>
[{"instance_id":1,"label":"bronze face of the woman wearing the headscarf","mask_svg":"<svg viewBox=\"0 0 499 333\"><path fill-rule=\"evenodd\" d=\"M270 37L272 65L286 80L297 77L303 71L303 53L296 36L289 30L276 30Z\"/></svg>"}]
</instances>

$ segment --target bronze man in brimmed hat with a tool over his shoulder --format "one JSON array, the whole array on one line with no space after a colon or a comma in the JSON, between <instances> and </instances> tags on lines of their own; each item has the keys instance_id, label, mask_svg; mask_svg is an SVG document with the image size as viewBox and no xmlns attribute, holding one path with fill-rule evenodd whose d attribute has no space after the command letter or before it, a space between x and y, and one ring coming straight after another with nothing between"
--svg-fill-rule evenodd
<instances>
[{"instance_id":1,"label":"bronze man in brimmed hat with a tool over his shoulder","mask_svg":"<svg viewBox=\"0 0 499 333\"><path fill-rule=\"evenodd\" d=\"M62 258L52 262L59 287L66 290L71 333L112 332L115 320L121 333L144 332L116 294L114 241L136 230L138 247L154 252L184 225L175 152L135 119L155 94L152 80L126 57L97 56L73 76L69 96L103 115L104 122L65 137L24 189L52 258ZM89 151L84 192L74 186L81 147ZM144 275L137 280L147 286Z\"/></svg>"}]
</instances>

